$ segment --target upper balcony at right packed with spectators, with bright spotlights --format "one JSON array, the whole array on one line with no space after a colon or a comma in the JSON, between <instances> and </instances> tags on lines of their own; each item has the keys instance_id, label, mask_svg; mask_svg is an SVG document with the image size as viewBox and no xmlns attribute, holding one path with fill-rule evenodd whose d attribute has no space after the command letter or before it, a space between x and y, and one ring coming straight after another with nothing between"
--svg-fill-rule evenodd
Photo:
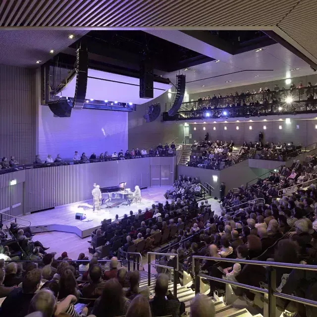
<instances>
[{"instance_id":1,"label":"upper balcony at right packed with spectators, with bright spotlights","mask_svg":"<svg viewBox=\"0 0 317 317\"><path fill-rule=\"evenodd\" d=\"M183 103L173 116L167 113L172 104L166 103L163 121L317 113L314 98L317 86L199 100Z\"/></svg>"}]
</instances>

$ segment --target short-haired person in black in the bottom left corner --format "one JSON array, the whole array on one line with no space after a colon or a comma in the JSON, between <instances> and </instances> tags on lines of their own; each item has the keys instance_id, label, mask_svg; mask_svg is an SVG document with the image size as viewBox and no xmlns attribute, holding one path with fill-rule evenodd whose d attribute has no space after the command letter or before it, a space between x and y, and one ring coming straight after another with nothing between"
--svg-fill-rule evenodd
<instances>
[{"instance_id":1,"label":"short-haired person in black in the bottom left corner","mask_svg":"<svg viewBox=\"0 0 317 317\"><path fill-rule=\"evenodd\" d=\"M24 317L27 315L31 300L41 283L41 269L35 268L27 272L22 288L14 288L1 305L1 316Z\"/></svg>"}]
</instances>

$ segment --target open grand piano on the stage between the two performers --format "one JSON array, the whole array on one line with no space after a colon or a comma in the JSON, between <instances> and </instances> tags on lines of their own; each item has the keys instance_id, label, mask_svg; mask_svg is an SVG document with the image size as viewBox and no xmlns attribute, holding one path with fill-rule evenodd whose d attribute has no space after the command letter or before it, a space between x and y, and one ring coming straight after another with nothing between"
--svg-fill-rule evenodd
<instances>
[{"instance_id":1,"label":"open grand piano on the stage between the two performers","mask_svg":"<svg viewBox=\"0 0 317 317\"><path fill-rule=\"evenodd\" d=\"M122 182L119 185L115 186L107 186L107 187L100 187L100 191L102 194L102 205L106 204L109 207L109 203L114 199L115 205L119 208L118 204L126 201L128 205L131 205L133 201L133 193L125 189L126 183Z\"/></svg>"}]
</instances>

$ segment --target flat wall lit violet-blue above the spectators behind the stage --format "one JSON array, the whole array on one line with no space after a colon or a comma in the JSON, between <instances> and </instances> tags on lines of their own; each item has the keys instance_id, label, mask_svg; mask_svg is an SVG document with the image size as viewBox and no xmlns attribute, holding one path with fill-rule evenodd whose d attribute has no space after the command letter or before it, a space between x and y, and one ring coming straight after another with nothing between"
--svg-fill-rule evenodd
<instances>
[{"instance_id":1,"label":"flat wall lit violet-blue above the spectators behind the stage","mask_svg":"<svg viewBox=\"0 0 317 317\"><path fill-rule=\"evenodd\" d=\"M69 118L58 118L48 106L39 106L37 154L43 160L48 154L72 158L78 151L89 157L93 152L118 153L127 148L127 112L74 109Z\"/></svg>"}]
</instances>

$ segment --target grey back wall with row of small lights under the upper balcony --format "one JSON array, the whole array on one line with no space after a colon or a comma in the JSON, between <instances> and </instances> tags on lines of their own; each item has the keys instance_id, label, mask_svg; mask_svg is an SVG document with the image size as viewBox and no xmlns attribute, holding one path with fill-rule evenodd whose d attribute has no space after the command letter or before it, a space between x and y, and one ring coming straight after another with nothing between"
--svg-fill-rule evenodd
<instances>
[{"instance_id":1,"label":"grey back wall with row of small lights under the upper balcony","mask_svg":"<svg viewBox=\"0 0 317 317\"><path fill-rule=\"evenodd\" d=\"M264 125L266 126L265 130ZM206 132L209 132L210 140L227 140L228 142L233 140L236 145L242 145L244 141L258 142L259 132L262 131L264 132L264 141L274 143L292 141L294 144L310 145L317 142L316 125L317 120L296 120L296 116L292 116L290 123L286 123L285 120L275 120L189 124L189 133L192 134L192 142L203 140ZM237 126L239 130L236 129ZM250 126L252 130L250 130ZM279 126L282 129L279 129ZM214 127L216 130L213 130ZM227 129L225 130L224 127Z\"/></svg>"}]
</instances>

